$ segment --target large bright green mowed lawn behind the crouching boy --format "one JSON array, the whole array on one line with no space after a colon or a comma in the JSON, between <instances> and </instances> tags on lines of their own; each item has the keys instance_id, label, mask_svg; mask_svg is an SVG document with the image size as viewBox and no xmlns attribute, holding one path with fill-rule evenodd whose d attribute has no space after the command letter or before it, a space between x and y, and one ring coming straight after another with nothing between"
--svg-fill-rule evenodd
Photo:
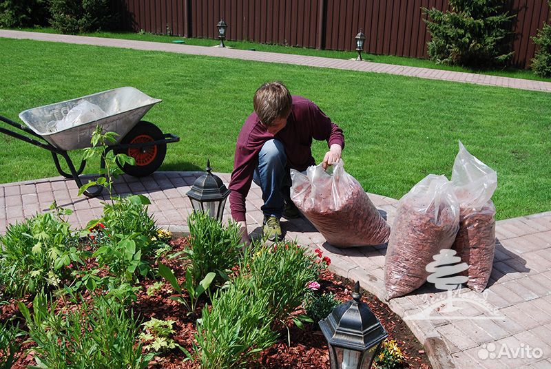
<instances>
[{"instance_id":1,"label":"large bright green mowed lawn behind the crouching boy","mask_svg":"<svg viewBox=\"0 0 551 369\"><path fill-rule=\"evenodd\" d=\"M181 141L161 170L202 169L210 158L230 172L256 88L280 80L344 129L346 171L366 191L400 198L428 173L449 178L461 140L497 170L498 219L551 210L551 94L89 45L0 39L0 48L0 114L12 120L126 85L162 98L145 119ZM0 182L58 175L48 151L5 135L0 144ZM318 162L325 151L313 146Z\"/></svg>"}]
</instances>

